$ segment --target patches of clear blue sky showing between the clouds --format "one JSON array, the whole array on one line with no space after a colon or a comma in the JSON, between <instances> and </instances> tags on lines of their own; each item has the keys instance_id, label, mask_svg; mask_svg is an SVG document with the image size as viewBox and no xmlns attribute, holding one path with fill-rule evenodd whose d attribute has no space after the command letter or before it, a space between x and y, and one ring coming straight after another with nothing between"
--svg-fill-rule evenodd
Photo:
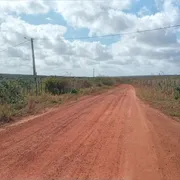
<instances>
[{"instance_id":1,"label":"patches of clear blue sky showing between the clouds","mask_svg":"<svg viewBox=\"0 0 180 180\"><path fill-rule=\"evenodd\" d=\"M126 13L135 14L138 16L139 11L146 7L149 10L149 14L154 14L157 12L157 8L155 6L154 0L138 0L134 2L133 5L128 9L124 10ZM34 15L27 15L22 14L20 16L22 20L34 24L34 25L41 25L41 24L58 24L67 27L67 32L65 33L65 38L76 38L76 37L87 37L89 34L88 28L74 28L70 24L66 22L63 16L60 13L55 11L50 11L47 14L34 14ZM111 37L111 38L99 38L99 39L87 39L82 41L100 41L102 44L111 45L114 42L119 41L120 37Z\"/></svg>"}]
</instances>

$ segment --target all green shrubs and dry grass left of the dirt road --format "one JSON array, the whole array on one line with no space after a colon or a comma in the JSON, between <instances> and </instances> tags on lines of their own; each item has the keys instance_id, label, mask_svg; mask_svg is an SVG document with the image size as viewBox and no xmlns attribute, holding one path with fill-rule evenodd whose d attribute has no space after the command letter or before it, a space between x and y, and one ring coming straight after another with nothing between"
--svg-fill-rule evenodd
<instances>
[{"instance_id":1,"label":"all green shrubs and dry grass left of the dirt road","mask_svg":"<svg viewBox=\"0 0 180 180\"><path fill-rule=\"evenodd\" d=\"M44 77L36 85L31 78L0 80L0 123L35 114L68 99L77 99L116 84L115 78Z\"/></svg>"}]
</instances>

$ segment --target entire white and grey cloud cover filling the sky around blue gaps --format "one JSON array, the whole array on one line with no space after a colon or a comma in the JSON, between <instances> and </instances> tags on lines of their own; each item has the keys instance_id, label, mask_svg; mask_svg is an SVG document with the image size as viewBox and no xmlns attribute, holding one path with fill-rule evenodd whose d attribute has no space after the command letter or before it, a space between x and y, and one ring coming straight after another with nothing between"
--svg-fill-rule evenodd
<instances>
[{"instance_id":1,"label":"entire white and grey cloud cover filling the sky around blue gaps","mask_svg":"<svg viewBox=\"0 0 180 180\"><path fill-rule=\"evenodd\" d=\"M62 75L71 69L74 75L92 75L94 67L105 75L178 73L178 29L121 36L117 42L104 45L101 41L68 41L64 38L66 26L32 25L21 19L23 13L38 15L54 11L72 28L87 28L89 36L180 24L179 0L155 0L158 10L155 14L143 6L133 14L130 10L135 3L133 0L0 2L0 71L32 72L30 42L14 45L24 41L24 37L33 37L39 74Z\"/></svg>"}]
</instances>

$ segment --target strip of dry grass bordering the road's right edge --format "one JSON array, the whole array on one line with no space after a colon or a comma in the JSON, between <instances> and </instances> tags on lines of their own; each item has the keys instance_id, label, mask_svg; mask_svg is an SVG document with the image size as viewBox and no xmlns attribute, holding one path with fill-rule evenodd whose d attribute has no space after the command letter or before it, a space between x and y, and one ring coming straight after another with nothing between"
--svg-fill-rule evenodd
<instances>
[{"instance_id":1,"label":"strip of dry grass bordering the road's right edge","mask_svg":"<svg viewBox=\"0 0 180 180\"><path fill-rule=\"evenodd\" d=\"M138 86L136 87L136 94L152 107L180 121L180 99L176 100L173 95L167 95L153 87Z\"/></svg>"}]
</instances>

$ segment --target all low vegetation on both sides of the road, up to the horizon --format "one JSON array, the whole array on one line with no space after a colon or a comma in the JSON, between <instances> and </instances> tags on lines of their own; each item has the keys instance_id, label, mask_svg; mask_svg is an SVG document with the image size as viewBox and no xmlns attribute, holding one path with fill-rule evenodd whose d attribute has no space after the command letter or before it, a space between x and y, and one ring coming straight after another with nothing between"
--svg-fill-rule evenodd
<instances>
[{"instance_id":1,"label":"all low vegetation on both sides of the road, up to the horizon","mask_svg":"<svg viewBox=\"0 0 180 180\"><path fill-rule=\"evenodd\" d=\"M0 123L36 114L69 99L76 100L82 95L98 93L107 87L122 83L133 84L141 99L180 119L180 76L38 77L37 92L34 79L28 76L8 79L0 77Z\"/></svg>"}]
</instances>

